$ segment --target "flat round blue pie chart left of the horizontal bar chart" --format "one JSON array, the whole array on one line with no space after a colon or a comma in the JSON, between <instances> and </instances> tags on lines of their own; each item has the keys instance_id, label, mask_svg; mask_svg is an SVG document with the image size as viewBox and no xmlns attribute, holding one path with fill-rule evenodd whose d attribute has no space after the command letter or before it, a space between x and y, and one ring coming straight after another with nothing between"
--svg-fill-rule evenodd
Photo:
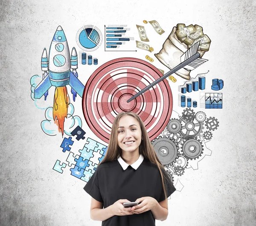
<instances>
[{"instance_id":1,"label":"flat round blue pie chart left of the horizontal bar chart","mask_svg":"<svg viewBox=\"0 0 256 226\"><path fill-rule=\"evenodd\" d=\"M76 43L82 50L94 51L102 43L102 33L96 26L84 25L76 34Z\"/></svg>"}]
</instances>

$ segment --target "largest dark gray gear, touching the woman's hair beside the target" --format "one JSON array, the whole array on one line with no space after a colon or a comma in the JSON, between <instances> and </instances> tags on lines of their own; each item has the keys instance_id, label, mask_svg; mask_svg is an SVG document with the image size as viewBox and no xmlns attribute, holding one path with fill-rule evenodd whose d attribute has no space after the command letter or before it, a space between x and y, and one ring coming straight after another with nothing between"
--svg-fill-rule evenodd
<instances>
[{"instance_id":1,"label":"largest dark gray gear, touching the woman's hair beside the target","mask_svg":"<svg viewBox=\"0 0 256 226\"><path fill-rule=\"evenodd\" d=\"M154 141L151 141L151 143L163 166L168 166L176 162L176 158L178 158L177 155L180 154L180 152L178 152L179 145L175 140L170 137L159 136L154 139Z\"/></svg>"}]
</instances>

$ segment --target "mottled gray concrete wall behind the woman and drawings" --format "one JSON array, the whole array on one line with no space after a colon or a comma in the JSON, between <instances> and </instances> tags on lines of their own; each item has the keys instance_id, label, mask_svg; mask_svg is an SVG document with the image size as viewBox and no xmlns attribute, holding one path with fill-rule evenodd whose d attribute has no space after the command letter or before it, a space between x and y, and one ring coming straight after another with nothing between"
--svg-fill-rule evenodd
<instances>
[{"instance_id":1,"label":"mottled gray concrete wall behind the woman and drawings","mask_svg":"<svg viewBox=\"0 0 256 226\"><path fill-rule=\"evenodd\" d=\"M85 182L70 176L69 169L63 174L52 170L56 159L67 157L59 147L63 138L41 130L44 110L35 107L29 81L42 73L41 54L44 47L49 50L59 25L70 51L72 46L79 51L76 32L84 24L96 25L102 32L105 24L127 24L139 40L135 25L143 25L143 20L157 20L166 31L150 36L157 50L177 23L201 25L212 40L204 55L209 61L192 75L209 70L207 86L213 78L224 80L223 109L198 108L219 121L207 143L212 154L198 163L198 170L185 171L180 178L182 191L169 200L167 220L156 225L256 225L255 1L6 0L0 8L0 225L101 225L90 219L90 195L82 189ZM147 53L110 54L101 46L91 54L100 66L118 57L144 59ZM167 72L157 59L153 64ZM80 66L82 83L95 69ZM176 78L169 84L174 110L180 113L177 86L184 80ZM74 106L87 136L100 141L85 123L81 98Z\"/></svg>"}]
</instances>

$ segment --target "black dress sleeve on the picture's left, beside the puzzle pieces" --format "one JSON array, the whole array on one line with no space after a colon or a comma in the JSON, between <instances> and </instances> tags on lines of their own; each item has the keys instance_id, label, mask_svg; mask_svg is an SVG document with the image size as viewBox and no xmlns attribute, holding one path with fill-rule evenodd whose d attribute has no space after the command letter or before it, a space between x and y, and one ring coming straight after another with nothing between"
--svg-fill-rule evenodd
<instances>
[{"instance_id":1,"label":"black dress sleeve on the picture's left, beside the puzzle pieces","mask_svg":"<svg viewBox=\"0 0 256 226\"><path fill-rule=\"evenodd\" d=\"M99 169L96 169L90 180L84 186L84 191L97 201L103 203L102 195L99 189Z\"/></svg>"}]
</instances>

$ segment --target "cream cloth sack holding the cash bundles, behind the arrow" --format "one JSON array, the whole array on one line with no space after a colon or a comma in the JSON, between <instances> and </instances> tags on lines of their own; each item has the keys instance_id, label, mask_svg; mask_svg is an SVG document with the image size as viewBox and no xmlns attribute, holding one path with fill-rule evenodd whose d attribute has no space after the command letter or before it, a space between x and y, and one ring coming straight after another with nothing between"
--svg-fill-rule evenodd
<instances>
[{"instance_id":1,"label":"cream cloth sack holding the cash bundles, behind the arrow","mask_svg":"<svg viewBox=\"0 0 256 226\"><path fill-rule=\"evenodd\" d=\"M157 59L170 70L181 63L180 57L183 55L184 52L188 50L187 45L178 40L177 35L175 34L176 29L177 27L173 27L171 34L163 43L163 48L160 50L159 53L154 54ZM204 51L198 50L198 52L200 53L200 57L202 57ZM189 80L190 72L190 70L182 68L175 72L175 74L186 80Z\"/></svg>"}]
</instances>

